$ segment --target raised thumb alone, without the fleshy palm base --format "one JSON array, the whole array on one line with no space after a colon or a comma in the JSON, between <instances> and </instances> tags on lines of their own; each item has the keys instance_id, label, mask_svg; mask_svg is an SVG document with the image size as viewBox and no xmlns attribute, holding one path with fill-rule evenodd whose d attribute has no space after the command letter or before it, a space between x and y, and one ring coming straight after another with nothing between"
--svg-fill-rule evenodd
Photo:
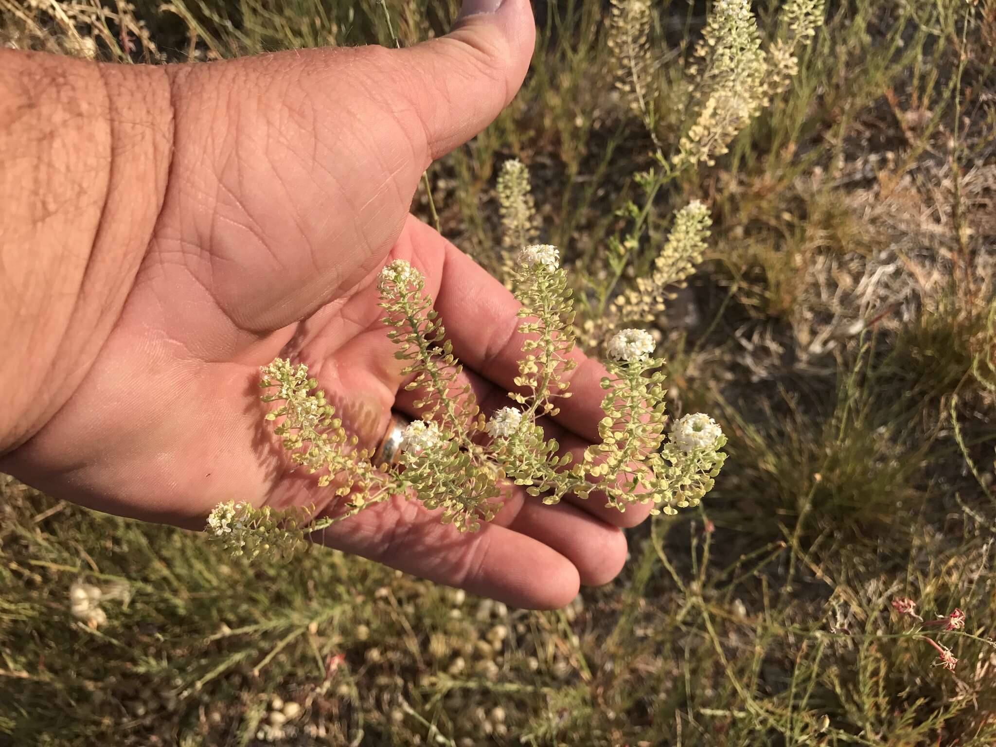
<instances>
[{"instance_id":1,"label":"raised thumb alone, without the fleshy palm base","mask_svg":"<svg viewBox=\"0 0 996 747\"><path fill-rule=\"evenodd\" d=\"M449 34L393 53L390 88L420 121L427 159L469 140L512 101L535 36L529 0L464 0Z\"/></svg>"}]
</instances>

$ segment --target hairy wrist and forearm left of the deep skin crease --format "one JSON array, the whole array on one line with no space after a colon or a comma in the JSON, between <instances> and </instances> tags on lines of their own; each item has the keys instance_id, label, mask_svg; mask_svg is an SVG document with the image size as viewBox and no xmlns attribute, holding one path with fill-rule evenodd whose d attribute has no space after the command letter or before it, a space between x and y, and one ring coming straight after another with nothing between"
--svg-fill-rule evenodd
<instances>
[{"instance_id":1,"label":"hairy wrist and forearm left of the deep skin crease","mask_svg":"<svg viewBox=\"0 0 996 747\"><path fill-rule=\"evenodd\" d=\"M165 193L165 69L0 50L0 454L90 371Z\"/></svg>"}]
</instances>

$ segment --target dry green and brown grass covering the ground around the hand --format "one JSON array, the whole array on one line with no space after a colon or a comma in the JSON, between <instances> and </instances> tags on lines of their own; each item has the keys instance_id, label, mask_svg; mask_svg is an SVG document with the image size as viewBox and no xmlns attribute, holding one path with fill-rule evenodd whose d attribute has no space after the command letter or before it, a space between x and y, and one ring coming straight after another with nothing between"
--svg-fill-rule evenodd
<instances>
[{"instance_id":1,"label":"dry green and brown grass covering the ground around the hand","mask_svg":"<svg viewBox=\"0 0 996 747\"><path fill-rule=\"evenodd\" d=\"M455 14L386 7L405 44ZM613 94L600 4L541 10L522 93L430 182L444 233L486 259L497 168L520 157L543 236L591 272L652 143ZM654 45L680 61L702 12L664 4ZM26 3L0 13L22 47L74 52L91 33ZM713 209L708 261L669 311L698 321L661 330L672 409L714 413L730 459L700 511L629 532L616 582L566 611L506 611L320 548L233 561L6 481L0 743L252 745L275 695L325 733L282 744L996 742L992 18L961 0L834 3L791 91L650 205L651 237L690 197ZM389 39L373 0L139 3L135 19L162 59ZM117 33L97 36L121 57ZM678 77L657 85L682 101ZM77 580L130 598L92 629L69 612ZM926 621L966 613L931 633L955 671L931 665L897 597Z\"/></svg>"}]
</instances>

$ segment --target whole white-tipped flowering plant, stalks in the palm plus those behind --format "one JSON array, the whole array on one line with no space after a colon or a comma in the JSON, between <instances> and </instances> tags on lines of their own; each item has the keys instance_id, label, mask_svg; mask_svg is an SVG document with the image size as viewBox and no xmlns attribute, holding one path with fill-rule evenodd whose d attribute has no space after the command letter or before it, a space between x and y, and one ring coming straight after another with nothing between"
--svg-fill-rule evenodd
<instances>
[{"instance_id":1,"label":"whole white-tipped flowering plant, stalks in the palm plus those behind","mask_svg":"<svg viewBox=\"0 0 996 747\"><path fill-rule=\"evenodd\" d=\"M540 221L529 171L518 160L506 161L497 184L505 251L482 261L522 304L523 355L517 389L509 392L514 404L490 416L480 411L470 385L459 383L460 363L423 293L421 274L394 260L379 275L380 306L398 346L395 355L405 362L406 386L419 392L415 406L421 415L404 431L398 462L374 463L373 453L347 433L308 369L278 359L262 370L264 401L279 402L266 418L277 421L275 432L292 460L319 473L319 484L333 486L344 504L335 518L310 525L308 512L299 510L258 514L245 504L219 506L221 513L212 515L215 524L208 527L216 538L237 552L256 553L287 544L281 532L300 538L394 495L439 509L442 521L457 531L474 531L501 508L507 481L549 504L568 494L588 498L598 492L620 511L650 503L651 513L694 506L712 487L725 459L722 431L708 415L696 413L665 432L663 361L654 358L655 341L641 329L656 321L673 298L671 289L684 285L702 261L709 211L698 200L676 210L659 246L648 235L648 215L655 196L679 172L711 164L771 97L786 89L798 55L823 22L824 3L789 2L780 33L765 48L747 0L717 0L685 72L694 92L690 121L670 154L658 137L654 109L652 87L661 61L648 46L649 6L645 0L613 0L613 7L614 75L651 134L657 165L634 176L643 204L630 201L622 208L629 228L610 239L601 266L579 263L585 280L585 292L577 297L580 319L558 249L532 243ZM602 380L601 442L575 462L545 435L540 418L556 416L571 396L576 341L586 351L604 350L609 374Z\"/></svg>"}]
</instances>

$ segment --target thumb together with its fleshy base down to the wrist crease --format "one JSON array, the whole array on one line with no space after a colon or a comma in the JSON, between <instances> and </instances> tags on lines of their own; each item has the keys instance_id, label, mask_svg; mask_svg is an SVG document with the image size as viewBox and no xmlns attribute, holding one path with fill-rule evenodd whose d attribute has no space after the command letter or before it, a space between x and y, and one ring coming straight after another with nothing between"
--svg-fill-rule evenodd
<instances>
[{"instance_id":1,"label":"thumb together with its fleshy base down to the wrist crease","mask_svg":"<svg viewBox=\"0 0 996 747\"><path fill-rule=\"evenodd\" d=\"M242 329L305 318L379 268L422 171L511 101L534 41L529 0L464 0L451 33L408 49L172 69L154 248L196 247L198 283Z\"/></svg>"}]
</instances>

